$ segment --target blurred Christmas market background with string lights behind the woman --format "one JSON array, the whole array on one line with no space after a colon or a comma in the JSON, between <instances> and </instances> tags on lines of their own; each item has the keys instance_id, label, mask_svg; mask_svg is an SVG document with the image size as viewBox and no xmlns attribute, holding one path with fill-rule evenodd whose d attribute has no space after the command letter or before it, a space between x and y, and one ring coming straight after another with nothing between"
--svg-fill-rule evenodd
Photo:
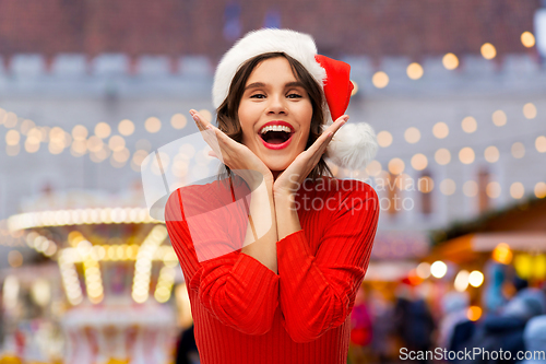
<instances>
[{"instance_id":1,"label":"blurred Christmas market background with string lights behind the woman","mask_svg":"<svg viewBox=\"0 0 546 364\"><path fill-rule=\"evenodd\" d=\"M546 1L0 0L0 363L199 363L141 164L214 119L215 66L260 27L348 62L348 122L378 137L365 171L332 165L382 210L347 362L536 347ZM167 168L213 172L195 145Z\"/></svg>"}]
</instances>

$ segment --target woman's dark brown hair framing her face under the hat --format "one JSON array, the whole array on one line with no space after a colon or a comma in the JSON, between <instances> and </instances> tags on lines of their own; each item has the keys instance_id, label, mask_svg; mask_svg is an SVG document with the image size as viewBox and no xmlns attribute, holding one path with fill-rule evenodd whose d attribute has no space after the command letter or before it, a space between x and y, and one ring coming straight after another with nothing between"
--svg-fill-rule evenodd
<instances>
[{"instance_id":1,"label":"woman's dark brown hair framing her face under the hat","mask_svg":"<svg viewBox=\"0 0 546 364\"><path fill-rule=\"evenodd\" d=\"M306 70L304 66L293 57L284 52L268 52L256 56L248 61L246 61L235 73L235 77L229 85L229 92L226 99L216 109L218 129L225 132L233 140L241 143L242 141L242 129L239 121L239 104L245 93L245 86L247 81L254 70L254 68L262 61L271 58L284 57L290 63L292 71L297 81L304 84L305 90L309 94L309 98L312 105L312 117L311 117L311 128L309 130L309 138L307 140L306 150L314 143L314 141L322 133L321 127L325 122L324 113L322 111L323 105L325 105L324 97L320 85L314 81L312 75ZM232 171L228 166L221 166L219 175L227 175L232 177ZM319 163L309 173L307 178L311 178L313 181L323 175L330 175L333 177L332 171L328 167L324 162L323 156L321 156ZM219 176L218 176L219 177Z\"/></svg>"}]
</instances>

